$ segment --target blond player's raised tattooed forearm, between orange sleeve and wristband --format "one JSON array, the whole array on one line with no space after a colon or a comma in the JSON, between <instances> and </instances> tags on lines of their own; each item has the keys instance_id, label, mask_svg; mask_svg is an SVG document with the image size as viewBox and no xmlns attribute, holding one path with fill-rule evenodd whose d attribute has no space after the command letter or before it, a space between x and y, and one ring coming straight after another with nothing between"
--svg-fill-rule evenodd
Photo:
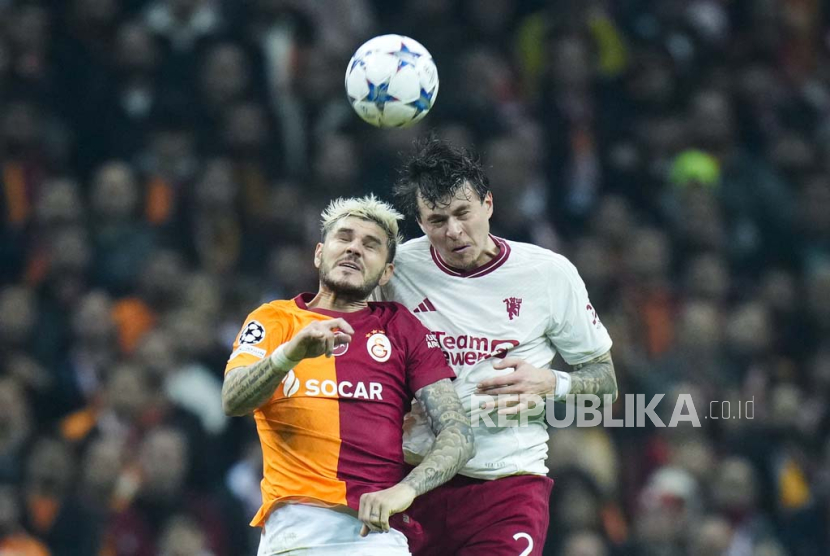
<instances>
[{"instance_id":1,"label":"blond player's raised tattooed forearm, between orange sleeve and wristband","mask_svg":"<svg viewBox=\"0 0 830 556\"><path fill-rule=\"evenodd\" d=\"M288 371L277 369L270 357L232 369L222 384L222 407L226 415L247 415L274 394Z\"/></svg>"}]
</instances>

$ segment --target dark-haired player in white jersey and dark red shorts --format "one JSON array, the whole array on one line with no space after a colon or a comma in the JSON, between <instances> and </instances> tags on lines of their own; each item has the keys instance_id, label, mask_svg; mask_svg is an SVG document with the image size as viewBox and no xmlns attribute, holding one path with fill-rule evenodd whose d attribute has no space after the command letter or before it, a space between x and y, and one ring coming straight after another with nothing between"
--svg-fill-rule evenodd
<instances>
[{"instance_id":1,"label":"dark-haired player in white jersey and dark red shorts","mask_svg":"<svg viewBox=\"0 0 830 556\"><path fill-rule=\"evenodd\" d=\"M380 295L406 305L432 331L469 414L478 416L476 393L616 397L611 338L576 268L546 249L490 234L493 195L473 156L435 138L420 143L395 196L425 235L400 246L395 276ZM574 372L550 369L557 352ZM416 404L407 418L404 453L412 463L433 445L425 417ZM476 456L410 510L426 533L416 555L541 554L552 486L544 414L527 426L481 418L473 430Z\"/></svg>"}]
</instances>

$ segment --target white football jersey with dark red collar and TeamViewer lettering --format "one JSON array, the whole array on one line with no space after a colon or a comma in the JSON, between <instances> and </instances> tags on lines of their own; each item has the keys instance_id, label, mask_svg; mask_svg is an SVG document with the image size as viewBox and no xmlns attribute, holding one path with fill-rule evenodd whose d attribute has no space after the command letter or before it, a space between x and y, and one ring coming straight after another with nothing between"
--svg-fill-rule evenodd
<instances>
[{"instance_id":1,"label":"white football jersey with dark red collar and TeamViewer lettering","mask_svg":"<svg viewBox=\"0 0 830 556\"><path fill-rule=\"evenodd\" d=\"M574 365L611 349L611 338L588 300L585 284L565 257L491 237L499 254L467 272L446 265L426 237L408 241L398 249L392 280L380 289L383 300L402 303L433 332L457 375L455 389L471 416L476 384L512 372L494 369L495 358L519 357L535 367L550 368L557 352ZM546 474L544 412L523 427L489 427L498 417L495 412L489 415L490 419L479 416L474 428L476 456L461 473L480 479ZM404 453L417 463L435 439L417 403L404 427Z\"/></svg>"}]
</instances>

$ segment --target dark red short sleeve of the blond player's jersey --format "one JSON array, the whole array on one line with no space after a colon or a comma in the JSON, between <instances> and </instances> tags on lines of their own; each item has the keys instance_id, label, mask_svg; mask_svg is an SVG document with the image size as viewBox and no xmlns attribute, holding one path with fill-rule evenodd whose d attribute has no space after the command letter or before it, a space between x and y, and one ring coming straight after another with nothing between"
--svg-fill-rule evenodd
<instances>
[{"instance_id":1,"label":"dark red short sleeve of the blond player's jersey","mask_svg":"<svg viewBox=\"0 0 830 556\"><path fill-rule=\"evenodd\" d=\"M412 393L445 378L455 379L435 335L406 308L401 310L397 328L406 345L406 383Z\"/></svg>"}]
</instances>

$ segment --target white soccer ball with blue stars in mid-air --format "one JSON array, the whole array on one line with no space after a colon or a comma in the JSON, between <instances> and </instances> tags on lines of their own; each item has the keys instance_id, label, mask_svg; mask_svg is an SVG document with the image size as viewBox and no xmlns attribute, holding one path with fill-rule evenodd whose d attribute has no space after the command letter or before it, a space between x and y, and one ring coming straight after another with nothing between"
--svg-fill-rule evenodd
<instances>
[{"instance_id":1,"label":"white soccer ball with blue stars in mid-air","mask_svg":"<svg viewBox=\"0 0 830 556\"><path fill-rule=\"evenodd\" d=\"M357 115L377 127L407 127L438 96L438 70L418 41L383 35L357 49L346 68L346 94Z\"/></svg>"}]
</instances>

